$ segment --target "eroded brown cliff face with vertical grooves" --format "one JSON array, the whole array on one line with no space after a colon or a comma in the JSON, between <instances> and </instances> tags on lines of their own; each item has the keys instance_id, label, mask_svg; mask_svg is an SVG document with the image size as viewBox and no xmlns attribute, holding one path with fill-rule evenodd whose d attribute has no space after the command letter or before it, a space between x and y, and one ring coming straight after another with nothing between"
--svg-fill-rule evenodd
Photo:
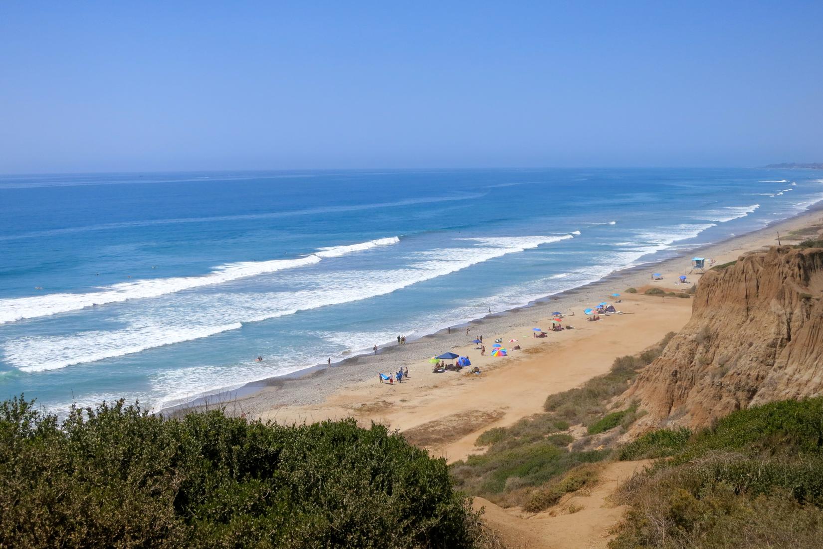
<instances>
[{"instance_id":1,"label":"eroded brown cliff face with vertical grooves","mask_svg":"<svg viewBox=\"0 0 823 549\"><path fill-rule=\"evenodd\" d=\"M635 430L823 394L821 292L823 249L774 246L704 274L689 323L624 395L649 412Z\"/></svg>"}]
</instances>

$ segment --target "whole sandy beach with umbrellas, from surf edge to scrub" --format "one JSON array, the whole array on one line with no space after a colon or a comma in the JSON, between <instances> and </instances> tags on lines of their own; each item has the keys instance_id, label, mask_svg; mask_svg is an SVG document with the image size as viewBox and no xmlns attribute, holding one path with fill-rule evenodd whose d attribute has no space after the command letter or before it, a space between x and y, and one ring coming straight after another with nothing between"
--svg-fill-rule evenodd
<instances>
[{"instance_id":1,"label":"whole sandy beach with umbrellas, from surf edge to scrub","mask_svg":"<svg viewBox=\"0 0 823 549\"><path fill-rule=\"evenodd\" d=\"M616 272L588 286L538 300L503 314L421 337L406 345L382 347L376 355L355 356L330 367L315 367L300 375L283 376L249 384L242 392L226 393L211 402L230 402L229 412L282 423L322 421L354 416L368 425L379 421L402 430L417 444L449 461L472 452L483 430L506 426L542 410L551 393L574 388L609 369L617 356L634 354L679 330L689 319L691 300L643 295L650 286L683 291L700 280L690 272L690 258L698 254L727 263L764 246L802 240L808 227L823 221L821 209L805 212L762 230L736 236L718 244L688 251L682 257ZM790 233L795 231L794 236ZM799 231L799 232L798 232ZM651 273L663 274L652 281ZM688 283L678 283L686 275ZM637 294L625 293L635 287ZM611 297L620 293L619 298ZM584 308L602 300L615 303L622 314L588 322ZM532 328L551 328L551 313L565 315L561 332L532 337ZM468 334L467 334L468 328ZM486 356L471 341L483 336ZM492 357L491 345L502 339L504 347L519 345L509 356ZM515 339L517 342L509 342ZM432 372L431 356L452 351L469 356L481 375ZM379 383L379 372L409 369L402 384Z\"/></svg>"}]
</instances>

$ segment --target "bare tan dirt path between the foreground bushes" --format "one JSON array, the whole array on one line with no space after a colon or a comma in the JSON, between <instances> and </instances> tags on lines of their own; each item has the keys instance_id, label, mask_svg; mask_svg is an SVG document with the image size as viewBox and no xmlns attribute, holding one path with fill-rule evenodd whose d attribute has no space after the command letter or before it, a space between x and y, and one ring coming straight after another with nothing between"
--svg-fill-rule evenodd
<instances>
[{"instance_id":1,"label":"bare tan dirt path between the foreground bushes","mask_svg":"<svg viewBox=\"0 0 823 549\"><path fill-rule=\"evenodd\" d=\"M608 463L600 482L588 495L567 495L542 513L528 515L518 508L502 509L481 497L474 499L474 507L486 508L484 522L510 549L605 549L609 531L625 511L625 505L611 505L607 498L648 463L650 460ZM570 514L570 508L579 510Z\"/></svg>"}]
</instances>

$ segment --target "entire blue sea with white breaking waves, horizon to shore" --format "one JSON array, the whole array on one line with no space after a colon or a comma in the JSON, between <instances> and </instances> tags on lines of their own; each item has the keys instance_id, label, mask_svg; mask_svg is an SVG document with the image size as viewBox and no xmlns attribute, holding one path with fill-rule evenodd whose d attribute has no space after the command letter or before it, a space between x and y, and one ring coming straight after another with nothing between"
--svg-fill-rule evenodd
<instances>
[{"instance_id":1,"label":"entire blue sea with white breaking waves, horizon to shore","mask_svg":"<svg viewBox=\"0 0 823 549\"><path fill-rule=\"evenodd\" d=\"M0 398L163 407L523 305L821 199L807 170L2 176Z\"/></svg>"}]
</instances>

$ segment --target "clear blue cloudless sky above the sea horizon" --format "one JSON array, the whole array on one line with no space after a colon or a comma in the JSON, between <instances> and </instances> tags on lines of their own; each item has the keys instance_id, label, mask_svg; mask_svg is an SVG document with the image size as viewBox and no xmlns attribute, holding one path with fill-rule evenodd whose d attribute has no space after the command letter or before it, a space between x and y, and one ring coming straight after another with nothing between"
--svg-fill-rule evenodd
<instances>
[{"instance_id":1,"label":"clear blue cloudless sky above the sea horizon","mask_svg":"<svg viewBox=\"0 0 823 549\"><path fill-rule=\"evenodd\" d=\"M823 161L823 2L2 2L0 173Z\"/></svg>"}]
</instances>

